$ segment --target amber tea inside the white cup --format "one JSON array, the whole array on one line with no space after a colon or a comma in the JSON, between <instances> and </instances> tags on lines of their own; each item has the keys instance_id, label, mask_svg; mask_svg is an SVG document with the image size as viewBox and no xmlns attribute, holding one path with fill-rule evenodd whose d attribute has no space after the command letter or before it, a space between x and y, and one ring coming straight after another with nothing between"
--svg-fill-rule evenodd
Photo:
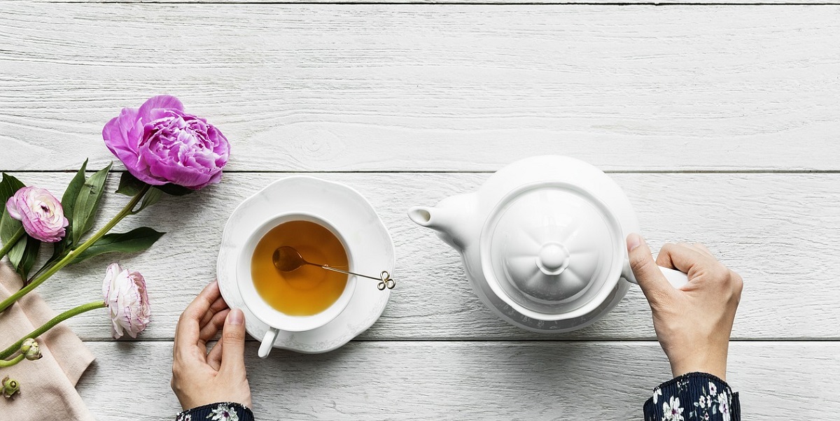
<instances>
[{"instance_id":1,"label":"amber tea inside the white cup","mask_svg":"<svg viewBox=\"0 0 840 421\"><path fill-rule=\"evenodd\" d=\"M260 238L251 257L251 279L260 297L281 313L307 316L328 309L347 285L347 275L303 265L280 272L271 257L277 247L295 247L307 262L348 270L347 252L339 238L310 221L288 221Z\"/></svg>"}]
</instances>

